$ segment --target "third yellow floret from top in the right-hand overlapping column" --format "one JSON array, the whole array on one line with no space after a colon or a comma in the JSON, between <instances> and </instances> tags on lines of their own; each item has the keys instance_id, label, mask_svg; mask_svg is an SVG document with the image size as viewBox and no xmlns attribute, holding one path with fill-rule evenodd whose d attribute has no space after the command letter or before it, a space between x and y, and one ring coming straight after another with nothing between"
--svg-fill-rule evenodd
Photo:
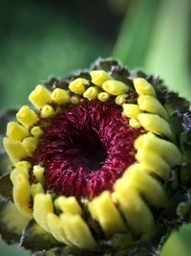
<instances>
[{"instance_id":1,"label":"third yellow floret from top in the right-hand overlapping column","mask_svg":"<svg viewBox=\"0 0 191 256\"><path fill-rule=\"evenodd\" d=\"M159 115L140 113L138 114L140 125L148 131L164 135L173 140L173 133L170 125Z\"/></svg>"}]
</instances>

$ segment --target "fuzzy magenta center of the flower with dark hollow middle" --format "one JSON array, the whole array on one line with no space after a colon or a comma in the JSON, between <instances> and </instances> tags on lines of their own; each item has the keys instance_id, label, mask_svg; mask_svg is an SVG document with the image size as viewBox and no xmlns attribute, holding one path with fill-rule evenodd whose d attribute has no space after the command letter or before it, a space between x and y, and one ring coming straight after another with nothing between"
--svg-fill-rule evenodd
<instances>
[{"instance_id":1,"label":"fuzzy magenta center of the flower with dark hollow middle","mask_svg":"<svg viewBox=\"0 0 191 256\"><path fill-rule=\"evenodd\" d=\"M44 129L34 162L45 167L47 189L58 195L94 198L135 162L140 129L129 127L113 103L70 105Z\"/></svg>"}]
</instances>

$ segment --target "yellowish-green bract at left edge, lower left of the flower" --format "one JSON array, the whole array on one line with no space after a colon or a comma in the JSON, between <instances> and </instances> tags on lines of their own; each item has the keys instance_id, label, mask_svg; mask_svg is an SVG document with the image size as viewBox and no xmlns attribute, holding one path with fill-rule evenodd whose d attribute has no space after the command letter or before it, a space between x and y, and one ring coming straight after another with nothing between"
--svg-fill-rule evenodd
<instances>
[{"instance_id":1,"label":"yellowish-green bract at left edge, lower left of the flower","mask_svg":"<svg viewBox=\"0 0 191 256\"><path fill-rule=\"evenodd\" d=\"M18 244L28 222L11 201L0 198L0 234L6 244Z\"/></svg>"}]
</instances>

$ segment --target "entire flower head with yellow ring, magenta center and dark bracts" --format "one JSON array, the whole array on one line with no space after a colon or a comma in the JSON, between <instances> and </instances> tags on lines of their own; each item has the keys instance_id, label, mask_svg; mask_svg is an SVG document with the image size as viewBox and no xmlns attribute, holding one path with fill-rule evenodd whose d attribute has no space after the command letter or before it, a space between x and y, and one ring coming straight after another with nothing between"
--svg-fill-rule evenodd
<instances>
[{"instance_id":1,"label":"entire flower head with yellow ring, magenta center and dark bracts","mask_svg":"<svg viewBox=\"0 0 191 256\"><path fill-rule=\"evenodd\" d=\"M189 103L158 77L99 59L90 72L37 85L29 100L34 108L22 106L3 138L7 243L53 255L153 255L189 221Z\"/></svg>"}]
</instances>

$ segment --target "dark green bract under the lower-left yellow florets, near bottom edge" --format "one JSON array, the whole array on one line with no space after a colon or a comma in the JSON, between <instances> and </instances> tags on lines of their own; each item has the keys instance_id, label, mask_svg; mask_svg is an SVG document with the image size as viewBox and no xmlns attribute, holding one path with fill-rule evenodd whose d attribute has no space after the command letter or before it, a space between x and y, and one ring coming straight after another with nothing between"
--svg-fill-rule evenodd
<instances>
[{"instance_id":1,"label":"dark green bract under the lower-left yellow florets, near bottom edge","mask_svg":"<svg viewBox=\"0 0 191 256\"><path fill-rule=\"evenodd\" d=\"M20 240L20 246L32 252L50 250L60 245L63 246L33 220L24 229Z\"/></svg>"}]
</instances>

